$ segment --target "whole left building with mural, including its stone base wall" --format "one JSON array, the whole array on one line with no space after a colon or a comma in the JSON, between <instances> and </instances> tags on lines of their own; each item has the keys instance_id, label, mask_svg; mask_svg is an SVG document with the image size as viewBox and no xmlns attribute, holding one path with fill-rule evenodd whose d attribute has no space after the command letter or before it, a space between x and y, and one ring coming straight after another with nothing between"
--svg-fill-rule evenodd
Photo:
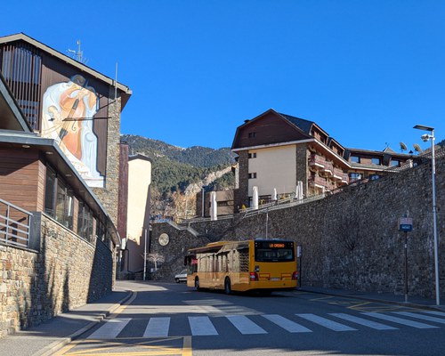
<instances>
[{"instance_id":1,"label":"whole left building with mural, including its stone base wall","mask_svg":"<svg viewBox=\"0 0 445 356\"><path fill-rule=\"evenodd\" d=\"M130 95L29 36L0 37L0 337L111 291Z\"/></svg>"}]
</instances>

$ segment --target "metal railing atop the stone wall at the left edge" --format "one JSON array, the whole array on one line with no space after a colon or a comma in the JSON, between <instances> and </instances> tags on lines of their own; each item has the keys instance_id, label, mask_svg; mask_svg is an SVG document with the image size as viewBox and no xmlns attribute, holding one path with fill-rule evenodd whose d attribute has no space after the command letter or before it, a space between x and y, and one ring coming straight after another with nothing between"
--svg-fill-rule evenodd
<instances>
[{"instance_id":1,"label":"metal railing atop the stone wall at the left edge","mask_svg":"<svg viewBox=\"0 0 445 356\"><path fill-rule=\"evenodd\" d=\"M31 217L28 211L0 199L0 243L28 247Z\"/></svg>"}]
</instances>

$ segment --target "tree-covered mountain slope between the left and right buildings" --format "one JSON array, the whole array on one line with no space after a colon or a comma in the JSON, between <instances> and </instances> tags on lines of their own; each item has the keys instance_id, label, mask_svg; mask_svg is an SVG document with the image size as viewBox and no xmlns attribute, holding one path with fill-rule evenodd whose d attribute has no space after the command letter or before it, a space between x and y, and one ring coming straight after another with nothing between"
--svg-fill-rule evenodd
<instances>
[{"instance_id":1,"label":"tree-covered mountain slope between the left and right buildings","mask_svg":"<svg viewBox=\"0 0 445 356\"><path fill-rule=\"evenodd\" d=\"M203 185L207 191L234 188L235 177L229 167L235 163L235 154L230 148L183 149L134 134L122 134L121 141L128 144L130 155L141 154L151 159L152 214L192 216L194 211L190 212L190 206L194 207L195 197L186 198L190 204L184 207L186 194L195 194L197 187Z\"/></svg>"}]
</instances>

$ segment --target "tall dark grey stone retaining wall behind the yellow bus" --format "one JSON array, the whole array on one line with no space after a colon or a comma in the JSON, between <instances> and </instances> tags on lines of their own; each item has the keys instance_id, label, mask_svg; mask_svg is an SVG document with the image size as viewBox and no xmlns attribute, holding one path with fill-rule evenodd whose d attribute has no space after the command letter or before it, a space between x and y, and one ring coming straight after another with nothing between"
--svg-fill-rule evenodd
<instances>
[{"instance_id":1,"label":"tall dark grey stone retaining wall behind the yellow bus","mask_svg":"<svg viewBox=\"0 0 445 356\"><path fill-rule=\"evenodd\" d=\"M436 161L437 226L441 295L445 294L445 159ZM409 214L409 295L433 297L433 207L431 164L350 185L327 198L269 211L268 238L293 239L303 247L302 285L369 292L404 293L404 233L398 219ZM190 223L201 234L169 228L174 253L165 247L166 264L174 265L182 247L219 239L265 238L266 214L214 222ZM156 224L156 233L165 224ZM156 244L156 241L152 241ZM153 246L153 245L152 245ZM171 261L170 261L171 260ZM164 269L167 266L163 266ZM169 278L172 278L169 276Z\"/></svg>"}]
</instances>

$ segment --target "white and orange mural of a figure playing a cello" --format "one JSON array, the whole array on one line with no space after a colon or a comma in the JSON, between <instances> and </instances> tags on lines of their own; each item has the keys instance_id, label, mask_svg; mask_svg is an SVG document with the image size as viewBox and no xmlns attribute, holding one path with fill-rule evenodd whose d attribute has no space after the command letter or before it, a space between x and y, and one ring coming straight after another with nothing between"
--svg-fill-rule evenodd
<instances>
[{"instance_id":1,"label":"white and orange mural of a figure playing a cello","mask_svg":"<svg viewBox=\"0 0 445 356\"><path fill-rule=\"evenodd\" d=\"M90 187L103 187L97 170L97 136L93 116L98 97L85 78L76 75L66 83L49 86L44 92L42 137L55 140L77 172Z\"/></svg>"}]
</instances>

